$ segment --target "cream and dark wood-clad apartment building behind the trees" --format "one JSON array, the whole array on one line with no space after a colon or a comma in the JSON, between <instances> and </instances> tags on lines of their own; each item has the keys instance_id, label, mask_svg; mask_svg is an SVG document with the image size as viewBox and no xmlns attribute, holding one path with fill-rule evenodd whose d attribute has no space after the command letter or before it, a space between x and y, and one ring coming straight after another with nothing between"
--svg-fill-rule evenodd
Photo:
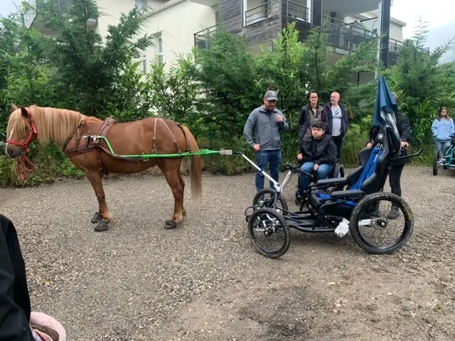
<instances>
[{"instance_id":1,"label":"cream and dark wood-clad apartment building behind the trees","mask_svg":"<svg viewBox=\"0 0 455 341\"><path fill-rule=\"evenodd\" d=\"M59 8L64 11L68 2L58 0ZM36 0L29 3L36 6ZM103 15L90 19L88 26L102 37L107 35L110 24L118 23L121 13L133 6L148 7L143 33L159 35L155 46L141 55L144 72L154 58L169 64L195 45L209 48L210 38L220 24L242 36L255 51L261 45L272 46L291 21L296 22L302 39L312 27L327 23L329 45L333 48L331 64L388 28L389 35L378 47L378 57L392 65L402 41L402 27L406 25L390 17L391 0L97 0L97 5ZM29 27L53 36L33 9L27 11L25 19Z\"/></svg>"}]
</instances>

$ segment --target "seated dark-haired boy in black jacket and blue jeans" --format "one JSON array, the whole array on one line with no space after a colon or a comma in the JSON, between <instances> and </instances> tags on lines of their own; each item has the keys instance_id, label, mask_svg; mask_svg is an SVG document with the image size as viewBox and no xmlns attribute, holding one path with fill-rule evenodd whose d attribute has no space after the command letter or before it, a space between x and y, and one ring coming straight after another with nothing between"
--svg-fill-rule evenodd
<instances>
[{"instance_id":1,"label":"seated dark-haired boy in black jacket and blue jeans","mask_svg":"<svg viewBox=\"0 0 455 341\"><path fill-rule=\"evenodd\" d=\"M303 161L301 171L317 174L317 179L328 179L333 173L333 166L336 163L336 144L332 136L326 135L326 123L316 121L311 130L311 138L301 142L300 154L297 158ZM299 190L296 199L301 200L311 183L309 175L299 177Z\"/></svg>"}]
</instances>

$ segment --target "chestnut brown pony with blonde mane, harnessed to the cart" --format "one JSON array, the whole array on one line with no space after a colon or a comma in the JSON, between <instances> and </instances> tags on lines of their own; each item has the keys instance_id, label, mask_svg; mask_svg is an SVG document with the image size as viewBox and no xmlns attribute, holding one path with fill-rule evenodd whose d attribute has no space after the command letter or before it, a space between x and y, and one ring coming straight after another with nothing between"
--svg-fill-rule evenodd
<instances>
[{"instance_id":1,"label":"chestnut brown pony with blonde mane, harnessed to the cart","mask_svg":"<svg viewBox=\"0 0 455 341\"><path fill-rule=\"evenodd\" d=\"M139 155L142 153L176 154L185 151L198 151L198 144L186 126L171 119L147 118L127 123L116 123L112 119L87 117L79 112L51 107L16 107L7 127L6 155L18 158L19 163L26 160L28 146L38 139L52 141L63 148L70 161L82 170L90 180L99 202L92 223L97 224L95 231L105 231L112 222L112 214L107 207L102 177L107 173L139 173L158 165L171 187L174 197L174 210L171 220L165 223L166 229L173 229L183 217L183 192L185 183L180 172L183 157L178 158L133 158L125 159L120 155ZM89 139L87 136L105 136L116 155L109 152L102 139ZM88 140L88 141L87 141ZM191 195L198 198L202 193L200 156L191 156Z\"/></svg>"}]
</instances>

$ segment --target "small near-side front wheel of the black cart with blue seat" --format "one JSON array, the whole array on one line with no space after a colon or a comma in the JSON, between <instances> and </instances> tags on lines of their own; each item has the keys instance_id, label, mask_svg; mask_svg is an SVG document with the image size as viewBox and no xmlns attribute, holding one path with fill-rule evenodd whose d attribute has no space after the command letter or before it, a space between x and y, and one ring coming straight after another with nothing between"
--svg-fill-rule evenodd
<instances>
[{"instance_id":1,"label":"small near-side front wheel of the black cart with blue seat","mask_svg":"<svg viewBox=\"0 0 455 341\"><path fill-rule=\"evenodd\" d=\"M291 244L286 220L270 208L259 208L253 212L248 221L248 233L259 254L270 258L281 257ZM270 244L273 246L268 246Z\"/></svg>"}]
</instances>

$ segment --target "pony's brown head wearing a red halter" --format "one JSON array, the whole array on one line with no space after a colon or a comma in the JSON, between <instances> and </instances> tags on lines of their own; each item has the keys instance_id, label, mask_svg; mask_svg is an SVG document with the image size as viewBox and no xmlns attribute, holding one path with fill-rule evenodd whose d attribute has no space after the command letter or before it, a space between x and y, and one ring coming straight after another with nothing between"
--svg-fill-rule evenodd
<instances>
[{"instance_id":1,"label":"pony's brown head wearing a red halter","mask_svg":"<svg viewBox=\"0 0 455 341\"><path fill-rule=\"evenodd\" d=\"M35 120L27 108L11 105L11 115L6 127L6 155L17 158L23 151L28 153L28 146L36 140L37 130Z\"/></svg>"}]
</instances>

